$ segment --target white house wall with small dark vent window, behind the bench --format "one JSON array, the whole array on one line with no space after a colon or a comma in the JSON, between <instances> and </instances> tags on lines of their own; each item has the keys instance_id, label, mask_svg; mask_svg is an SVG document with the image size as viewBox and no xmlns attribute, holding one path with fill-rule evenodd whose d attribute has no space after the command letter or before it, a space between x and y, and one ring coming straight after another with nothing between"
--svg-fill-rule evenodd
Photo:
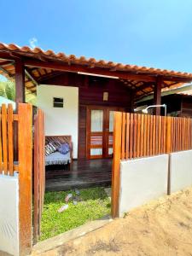
<instances>
[{"instance_id":1,"label":"white house wall with small dark vent window, behind the bench","mask_svg":"<svg viewBox=\"0 0 192 256\"><path fill-rule=\"evenodd\" d=\"M63 97L64 108L53 108L53 98ZM39 85L38 108L45 113L45 135L71 135L73 157L78 157L79 88Z\"/></svg>"}]
</instances>

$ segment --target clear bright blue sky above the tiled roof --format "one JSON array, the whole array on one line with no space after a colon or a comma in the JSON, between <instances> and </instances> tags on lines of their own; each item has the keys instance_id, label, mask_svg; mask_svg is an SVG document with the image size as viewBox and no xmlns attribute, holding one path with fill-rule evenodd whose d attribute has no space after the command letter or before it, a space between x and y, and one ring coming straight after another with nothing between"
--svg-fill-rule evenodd
<instances>
[{"instance_id":1,"label":"clear bright blue sky above the tiled roof","mask_svg":"<svg viewBox=\"0 0 192 256\"><path fill-rule=\"evenodd\" d=\"M192 72L191 0L0 1L0 41Z\"/></svg>"}]
</instances>

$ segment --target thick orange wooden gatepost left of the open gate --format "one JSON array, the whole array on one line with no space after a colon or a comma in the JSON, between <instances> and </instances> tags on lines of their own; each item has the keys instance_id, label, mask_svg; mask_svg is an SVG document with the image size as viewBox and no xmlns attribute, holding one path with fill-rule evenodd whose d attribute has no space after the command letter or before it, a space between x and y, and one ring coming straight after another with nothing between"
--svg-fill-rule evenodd
<instances>
[{"instance_id":1,"label":"thick orange wooden gatepost left of the open gate","mask_svg":"<svg viewBox=\"0 0 192 256\"><path fill-rule=\"evenodd\" d=\"M32 251L32 105L18 107L20 255Z\"/></svg>"}]
</instances>

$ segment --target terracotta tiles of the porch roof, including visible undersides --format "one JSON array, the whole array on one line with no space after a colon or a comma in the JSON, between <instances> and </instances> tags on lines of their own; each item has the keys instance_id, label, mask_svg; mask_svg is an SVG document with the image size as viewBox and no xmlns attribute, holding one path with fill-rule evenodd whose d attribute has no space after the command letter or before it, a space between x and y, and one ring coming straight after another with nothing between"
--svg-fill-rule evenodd
<instances>
[{"instance_id":1,"label":"terracotta tiles of the porch roof, including visible undersides","mask_svg":"<svg viewBox=\"0 0 192 256\"><path fill-rule=\"evenodd\" d=\"M97 61L95 58L86 58L85 56L79 56L77 57L76 55L65 55L62 52L55 53L53 50L48 49L40 49L38 47L31 49L28 46L23 46L20 47L16 44L3 44L0 43L0 52L6 52L6 53L11 53L12 55L21 55L21 56L29 56L32 58L44 60L44 61L63 61L68 63L69 65L73 64L78 64L84 67L98 67L98 68L105 68L109 69L109 71L113 72L125 72L125 73L133 73L133 74L143 74L148 76L157 76L157 75L162 75L164 76L164 83L162 88L165 90L164 87L169 87L172 88L172 86L178 86L179 84L174 84L172 85L172 82L174 82L173 77L180 78L178 81L184 81L189 80L192 81L192 73L182 73L182 72L176 72L173 70L167 70L167 69L160 69L160 68L154 68L154 67L144 67L144 66L137 66L137 65L130 65L130 64L123 64L123 63L116 63L113 61L104 61L104 60L99 60ZM1 63L4 62L0 60L0 66ZM7 62L7 61L6 61ZM65 64L66 64L65 63ZM39 80L41 76L43 77L51 77L52 73L54 72L52 69L49 68L43 68L43 67L28 67L29 71L31 69L31 73L34 75L34 78ZM15 67L14 63L10 62L10 64L5 63L5 66L3 66L2 69L0 69L0 73L3 73L5 76L14 76L15 74ZM53 73L54 75L58 75L58 73ZM115 74L115 73L114 73ZM167 78L173 78L171 80ZM143 89L139 90L140 86L143 86L143 81L138 83L139 81L136 81L134 84L133 80L126 80L126 79L120 79L122 83L124 83L125 86L136 90L137 89L137 96L144 96L148 93L151 93L153 91L152 84L148 83L147 87L144 86ZM180 83L180 82L178 82ZM182 83L181 83L182 84ZM180 84L180 85L181 85ZM28 81L26 82L26 85L30 90L35 91L35 84L32 84L32 81L28 78ZM33 86L34 85L34 86ZM144 84L145 85L145 84Z\"/></svg>"}]
</instances>

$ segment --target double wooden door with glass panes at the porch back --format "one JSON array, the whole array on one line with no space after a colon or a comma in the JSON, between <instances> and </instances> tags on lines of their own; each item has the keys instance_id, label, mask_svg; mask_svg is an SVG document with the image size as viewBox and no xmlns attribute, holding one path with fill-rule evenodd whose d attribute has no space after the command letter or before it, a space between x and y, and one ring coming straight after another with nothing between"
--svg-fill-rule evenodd
<instances>
[{"instance_id":1,"label":"double wooden door with glass panes at the porch back","mask_svg":"<svg viewBox=\"0 0 192 256\"><path fill-rule=\"evenodd\" d=\"M87 158L108 158L113 155L113 115L122 108L87 108Z\"/></svg>"}]
</instances>

